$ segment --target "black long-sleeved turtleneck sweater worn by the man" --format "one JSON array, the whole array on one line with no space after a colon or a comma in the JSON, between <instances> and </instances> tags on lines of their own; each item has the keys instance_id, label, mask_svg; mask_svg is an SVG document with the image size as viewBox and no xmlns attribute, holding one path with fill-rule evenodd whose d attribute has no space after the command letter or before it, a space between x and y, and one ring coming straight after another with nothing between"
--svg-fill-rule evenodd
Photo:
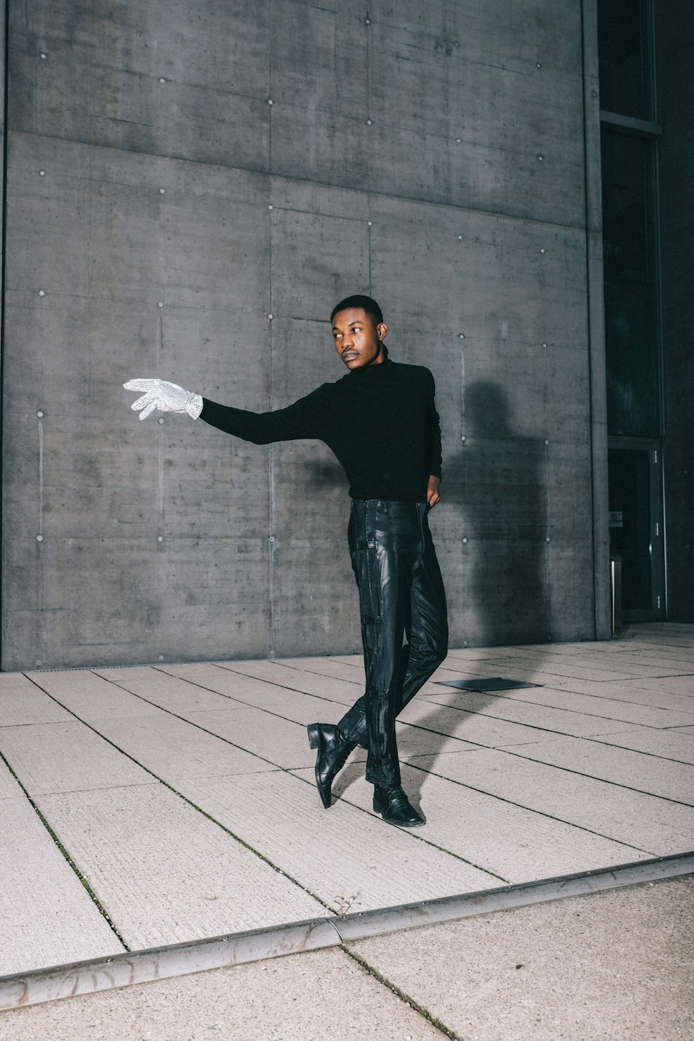
<instances>
[{"instance_id":1,"label":"black long-sleeved turtleneck sweater worn by the man","mask_svg":"<svg viewBox=\"0 0 694 1041\"><path fill-rule=\"evenodd\" d=\"M200 417L255 445L316 438L332 449L353 499L426 502L441 476L434 377L386 358L324 383L276 412L248 412L203 399Z\"/></svg>"}]
</instances>

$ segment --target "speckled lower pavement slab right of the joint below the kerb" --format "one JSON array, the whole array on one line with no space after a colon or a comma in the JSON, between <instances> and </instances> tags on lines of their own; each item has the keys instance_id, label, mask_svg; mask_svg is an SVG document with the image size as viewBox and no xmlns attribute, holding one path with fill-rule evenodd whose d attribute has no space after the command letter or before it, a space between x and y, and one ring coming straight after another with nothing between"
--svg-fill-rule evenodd
<instances>
[{"instance_id":1,"label":"speckled lower pavement slab right of the joint below the kerb","mask_svg":"<svg viewBox=\"0 0 694 1041\"><path fill-rule=\"evenodd\" d=\"M460 1038L686 1041L694 883L672 880L350 943Z\"/></svg>"}]
</instances>

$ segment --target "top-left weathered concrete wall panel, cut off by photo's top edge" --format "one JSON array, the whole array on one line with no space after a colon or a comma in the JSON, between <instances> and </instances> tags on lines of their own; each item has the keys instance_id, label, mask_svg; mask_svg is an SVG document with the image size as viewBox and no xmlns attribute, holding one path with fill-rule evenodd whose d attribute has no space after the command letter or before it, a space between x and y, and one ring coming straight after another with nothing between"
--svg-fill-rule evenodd
<instances>
[{"instance_id":1,"label":"top-left weathered concrete wall panel, cut off by photo's top edge","mask_svg":"<svg viewBox=\"0 0 694 1041\"><path fill-rule=\"evenodd\" d=\"M10 128L266 170L268 12L267 0L252 18L240 0L15 4Z\"/></svg>"}]
</instances>

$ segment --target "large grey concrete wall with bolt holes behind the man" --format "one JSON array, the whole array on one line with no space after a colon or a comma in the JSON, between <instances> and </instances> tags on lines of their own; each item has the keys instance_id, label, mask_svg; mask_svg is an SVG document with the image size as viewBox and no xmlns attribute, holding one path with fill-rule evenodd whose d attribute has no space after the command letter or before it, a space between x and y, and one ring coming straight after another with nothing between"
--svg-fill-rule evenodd
<instances>
[{"instance_id":1,"label":"large grey concrete wall with bolt holes behind the man","mask_svg":"<svg viewBox=\"0 0 694 1041\"><path fill-rule=\"evenodd\" d=\"M592 8L11 0L4 668L359 648L328 450L121 389L281 407L354 291L437 380L453 641L607 635Z\"/></svg>"}]
</instances>

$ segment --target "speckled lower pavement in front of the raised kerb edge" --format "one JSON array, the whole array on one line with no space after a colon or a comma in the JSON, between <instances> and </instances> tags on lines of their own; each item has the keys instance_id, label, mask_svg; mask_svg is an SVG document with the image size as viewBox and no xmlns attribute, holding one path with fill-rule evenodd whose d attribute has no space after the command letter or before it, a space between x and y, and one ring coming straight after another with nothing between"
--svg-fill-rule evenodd
<instances>
[{"instance_id":1,"label":"speckled lower pavement in front of the raised kerb edge","mask_svg":"<svg viewBox=\"0 0 694 1041\"><path fill-rule=\"evenodd\" d=\"M19 1009L0 1041L689 1041L694 880Z\"/></svg>"}]
</instances>

